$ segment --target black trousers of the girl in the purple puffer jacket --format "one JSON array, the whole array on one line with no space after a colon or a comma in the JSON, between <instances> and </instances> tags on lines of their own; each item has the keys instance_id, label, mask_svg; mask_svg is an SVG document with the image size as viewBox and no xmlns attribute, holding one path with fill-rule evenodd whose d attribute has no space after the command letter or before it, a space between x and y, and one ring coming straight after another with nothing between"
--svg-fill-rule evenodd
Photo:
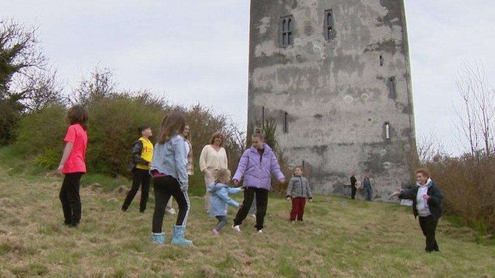
<instances>
[{"instance_id":1,"label":"black trousers of the girl in the purple puffer jacket","mask_svg":"<svg viewBox=\"0 0 495 278\"><path fill-rule=\"evenodd\" d=\"M248 216L253 200L256 197L256 225L258 230L263 229L265 221L266 208L268 206L268 190L254 187L244 189L244 201L237 211L234 219L234 226L242 224L242 221Z\"/></svg>"}]
</instances>

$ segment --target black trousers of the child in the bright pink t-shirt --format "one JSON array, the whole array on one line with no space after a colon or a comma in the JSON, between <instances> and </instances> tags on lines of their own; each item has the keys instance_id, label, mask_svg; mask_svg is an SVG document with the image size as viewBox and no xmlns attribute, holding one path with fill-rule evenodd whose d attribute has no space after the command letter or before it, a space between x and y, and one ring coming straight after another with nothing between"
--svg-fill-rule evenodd
<instances>
[{"instance_id":1,"label":"black trousers of the child in the bright pink t-shirt","mask_svg":"<svg viewBox=\"0 0 495 278\"><path fill-rule=\"evenodd\" d=\"M66 225L77 225L81 221L81 176L83 173L65 174L60 188L60 202L62 203L63 218Z\"/></svg>"}]
</instances>

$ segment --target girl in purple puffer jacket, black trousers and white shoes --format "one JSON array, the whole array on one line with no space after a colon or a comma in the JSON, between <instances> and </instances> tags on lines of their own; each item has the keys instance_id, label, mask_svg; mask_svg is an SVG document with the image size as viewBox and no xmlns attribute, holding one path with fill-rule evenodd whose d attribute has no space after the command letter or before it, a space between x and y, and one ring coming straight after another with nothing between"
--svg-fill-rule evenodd
<instances>
[{"instance_id":1,"label":"girl in purple puffer jacket, black trousers and white shoes","mask_svg":"<svg viewBox=\"0 0 495 278\"><path fill-rule=\"evenodd\" d=\"M234 219L232 228L240 231L239 225L248 216L249 209L256 196L256 229L262 233L263 221L265 220L266 207L268 205L268 192L271 189L271 175L275 176L280 183L285 183L286 178L273 150L264 143L261 133L253 135L253 145L246 149L240 158L237 171L232 182L237 185L244 177L242 187L244 187L244 201Z\"/></svg>"}]
</instances>

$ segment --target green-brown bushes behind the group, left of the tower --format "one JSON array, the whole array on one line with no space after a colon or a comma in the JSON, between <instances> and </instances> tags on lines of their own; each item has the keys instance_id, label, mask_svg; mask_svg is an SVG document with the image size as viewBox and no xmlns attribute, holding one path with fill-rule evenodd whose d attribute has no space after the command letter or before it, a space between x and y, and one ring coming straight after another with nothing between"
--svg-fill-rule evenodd
<instances>
[{"instance_id":1,"label":"green-brown bushes behind the group, left of the tower","mask_svg":"<svg viewBox=\"0 0 495 278\"><path fill-rule=\"evenodd\" d=\"M170 111L184 113L192 130L190 139L195 175L191 177L191 185L198 185L191 189L194 189L195 194L204 194L203 174L198 167L198 157L214 132L225 134L229 165L235 171L243 147L240 145L243 143L238 142L244 137L226 116L217 115L199 104L190 108L168 106L164 100L154 99L147 93L124 93L95 99L88 106L88 172L129 177L130 150L132 143L138 138L137 127L150 125L154 131L151 139L155 142L163 116ZM21 120L17 130L17 146L32 154L38 165L49 169L58 166L63 150L63 136L68 126L66 112L65 107L50 106L28 114Z\"/></svg>"}]
</instances>

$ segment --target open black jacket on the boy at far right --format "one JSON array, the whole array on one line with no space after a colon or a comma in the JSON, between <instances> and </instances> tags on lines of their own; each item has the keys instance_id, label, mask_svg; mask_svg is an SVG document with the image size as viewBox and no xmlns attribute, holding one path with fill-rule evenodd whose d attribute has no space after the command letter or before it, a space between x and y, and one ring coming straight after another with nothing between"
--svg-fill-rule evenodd
<instances>
[{"instance_id":1,"label":"open black jacket on the boy at far right","mask_svg":"<svg viewBox=\"0 0 495 278\"><path fill-rule=\"evenodd\" d=\"M433 218L438 220L442 216L443 192L433 181L431 183L432 184L427 191L427 194L430 196L430 199L428 200L428 207L430 208ZM416 208L417 191L418 186L414 186L413 188L406 189L399 194L399 198L401 199L412 200L412 213L414 214L414 217L418 216Z\"/></svg>"}]
</instances>

